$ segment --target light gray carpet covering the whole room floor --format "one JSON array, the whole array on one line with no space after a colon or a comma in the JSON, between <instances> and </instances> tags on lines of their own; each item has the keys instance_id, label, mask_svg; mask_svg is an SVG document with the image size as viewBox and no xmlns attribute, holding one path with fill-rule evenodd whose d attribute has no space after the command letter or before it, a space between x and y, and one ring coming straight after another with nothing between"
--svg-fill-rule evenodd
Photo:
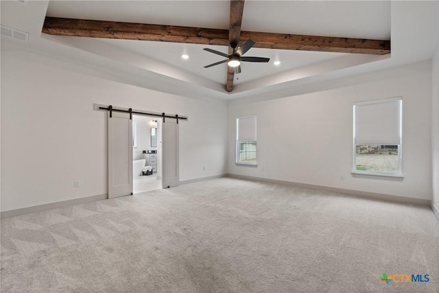
<instances>
[{"instance_id":1,"label":"light gray carpet covering the whole room floor","mask_svg":"<svg viewBox=\"0 0 439 293\"><path fill-rule=\"evenodd\" d=\"M234 178L1 221L1 292L438 292L438 263L428 207Z\"/></svg>"}]
</instances>

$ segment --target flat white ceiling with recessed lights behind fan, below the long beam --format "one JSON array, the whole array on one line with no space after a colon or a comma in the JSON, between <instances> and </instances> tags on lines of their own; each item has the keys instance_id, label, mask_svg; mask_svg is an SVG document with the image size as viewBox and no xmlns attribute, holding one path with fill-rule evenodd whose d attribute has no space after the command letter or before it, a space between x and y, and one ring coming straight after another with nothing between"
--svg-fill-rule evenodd
<instances>
[{"instance_id":1,"label":"flat white ceiling with recessed lights behind fan, below the long beam","mask_svg":"<svg viewBox=\"0 0 439 293\"><path fill-rule=\"evenodd\" d=\"M171 66L184 69L193 74L209 78L215 82L226 84L226 63L214 67L204 68L211 63L224 60L226 58L218 56L207 51L206 45L197 44L180 44L180 43L163 43L163 42L145 42L141 40L117 40L103 39L104 42L137 52L144 56L154 58ZM209 46L210 49L222 51L228 54L228 47ZM189 59L183 60L182 54L189 55ZM243 62L241 65L242 72L235 77L234 84L241 84L257 78L272 75L289 69L311 65L323 60L333 59L345 54L327 53L316 51L292 51L292 50L273 50L252 48L245 56L258 56L270 58L270 63L251 63ZM281 61L281 65L274 65L275 60Z\"/></svg>"}]
</instances>

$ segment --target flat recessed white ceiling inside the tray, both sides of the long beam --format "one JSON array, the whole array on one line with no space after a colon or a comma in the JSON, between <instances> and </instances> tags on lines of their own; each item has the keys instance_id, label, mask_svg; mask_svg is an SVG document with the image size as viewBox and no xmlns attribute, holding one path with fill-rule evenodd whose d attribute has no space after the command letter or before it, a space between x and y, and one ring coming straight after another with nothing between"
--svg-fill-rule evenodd
<instances>
[{"instance_id":1,"label":"flat recessed white ceiling inside the tray, both sides of the long beam","mask_svg":"<svg viewBox=\"0 0 439 293\"><path fill-rule=\"evenodd\" d=\"M50 1L47 16L228 29L230 15L229 1L134 1L130 2L130 5L125 1L110 1L104 6L103 8L101 1ZM316 8L320 13L317 13ZM339 17L341 12L347 17ZM389 40L390 2L331 1L320 3L318 7L313 1L247 1L244 5L241 30L322 36L331 36L333 32L337 32L337 36L342 37ZM141 40L103 41L215 82L226 83L226 64L203 68L213 62L224 60L221 56L202 50L205 45L163 44ZM228 48L224 46L209 47L228 53ZM182 54L188 54L190 59L182 60ZM237 75L234 84L343 55L253 48L246 56L270 58L272 62L269 65L244 63L241 66L243 73ZM275 60L281 61L281 65L273 65Z\"/></svg>"}]
</instances>

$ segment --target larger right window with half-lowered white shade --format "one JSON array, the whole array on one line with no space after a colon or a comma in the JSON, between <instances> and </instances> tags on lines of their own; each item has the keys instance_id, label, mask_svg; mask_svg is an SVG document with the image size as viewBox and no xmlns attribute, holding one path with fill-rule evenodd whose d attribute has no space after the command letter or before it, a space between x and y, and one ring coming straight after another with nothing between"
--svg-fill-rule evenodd
<instances>
[{"instance_id":1,"label":"larger right window with half-lowered white shade","mask_svg":"<svg viewBox=\"0 0 439 293\"><path fill-rule=\"evenodd\" d=\"M355 103L353 173L402 176L402 99Z\"/></svg>"}]
</instances>

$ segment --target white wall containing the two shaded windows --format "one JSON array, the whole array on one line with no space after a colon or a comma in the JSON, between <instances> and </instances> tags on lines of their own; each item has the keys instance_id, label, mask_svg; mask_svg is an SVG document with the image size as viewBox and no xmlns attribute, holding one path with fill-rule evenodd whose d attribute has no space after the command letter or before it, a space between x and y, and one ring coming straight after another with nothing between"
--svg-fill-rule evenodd
<instances>
[{"instance_id":1,"label":"white wall containing the two shaded windows","mask_svg":"<svg viewBox=\"0 0 439 293\"><path fill-rule=\"evenodd\" d=\"M431 61L350 82L283 99L230 102L228 173L431 200ZM353 176L353 103L396 96L403 97L404 178ZM257 115L258 165L238 166L235 119L252 114Z\"/></svg>"}]
</instances>

